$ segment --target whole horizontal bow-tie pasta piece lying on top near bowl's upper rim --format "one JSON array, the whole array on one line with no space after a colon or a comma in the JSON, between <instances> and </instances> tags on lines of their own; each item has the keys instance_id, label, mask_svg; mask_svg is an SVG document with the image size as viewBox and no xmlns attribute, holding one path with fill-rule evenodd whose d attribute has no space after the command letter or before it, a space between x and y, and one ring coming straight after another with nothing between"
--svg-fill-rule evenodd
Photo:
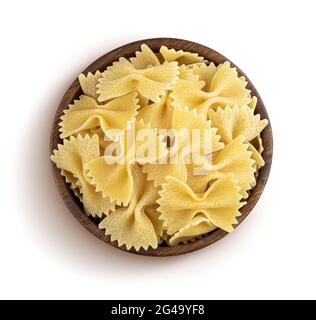
<instances>
[{"instance_id":1,"label":"whole horizontal bow-tie pasta piece lying on top near bowl's upper rim","mask_svg":"<svg viewBox=\"0 0 316 320\"><path fill-rule=\"evenodd\" d=\"M103 72L97 85L100 102L113 99L132 91L153 102L159 102L178 79L177 62L136 69L125 58L120 58Z\"/></svg>"}]
</instances>

